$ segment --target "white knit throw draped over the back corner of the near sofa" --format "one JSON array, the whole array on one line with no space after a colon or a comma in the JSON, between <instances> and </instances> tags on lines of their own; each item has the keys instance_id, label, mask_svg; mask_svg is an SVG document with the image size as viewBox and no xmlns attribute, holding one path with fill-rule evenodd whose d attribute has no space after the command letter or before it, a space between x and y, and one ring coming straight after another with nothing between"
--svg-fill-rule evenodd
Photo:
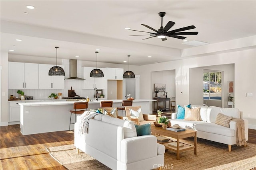
<instances>
[{"instance_id":1,"label":"white knit throw draped over the back corner of the near sofa","mask_svg":"<svg viewBox=\"0 0 256 170\"><path fill-rule=\"evenodd\" d=\"M84 133L88 133L89 121L91 118L95 117L100 113L96 113L94 111L85 111L78 119L79 128L78 134L82 135Z\"/></svg>"}]
</instances>

